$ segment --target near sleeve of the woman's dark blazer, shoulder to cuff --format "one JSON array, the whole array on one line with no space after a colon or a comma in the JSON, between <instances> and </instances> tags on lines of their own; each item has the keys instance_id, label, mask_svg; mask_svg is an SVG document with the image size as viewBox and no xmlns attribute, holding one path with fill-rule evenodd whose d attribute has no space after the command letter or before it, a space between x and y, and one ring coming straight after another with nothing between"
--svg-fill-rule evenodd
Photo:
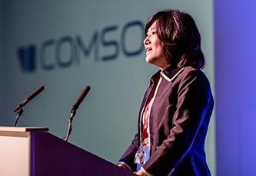
<instances>
[{"instance_id":1,"label":"near sleeve of the woman's dark blazer, shoulder to cuff","mask_svg":"<svg viewBox=\"0 0 256 176\"><path fill-rule=\"evenodd\" d=\"M168 117L172 119L170 133L142 166L152 175L170 173L190 152L205 117L211 116L209 112L212 110L212 106L210 110L209 106L213 103L211 88L201 70L184 71L173 84L178 87L176 94L178 97L174 115L172 113Z\"/></svg>"}]
</instances>

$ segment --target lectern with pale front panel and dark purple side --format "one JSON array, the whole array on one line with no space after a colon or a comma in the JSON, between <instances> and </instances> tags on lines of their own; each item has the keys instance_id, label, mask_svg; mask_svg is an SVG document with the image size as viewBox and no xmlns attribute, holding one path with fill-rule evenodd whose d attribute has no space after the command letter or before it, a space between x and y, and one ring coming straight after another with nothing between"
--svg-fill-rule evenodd
<instances>
[{"instance_id":1,"label":"lectern with pale front panel and dark purple side","mask_svg":"<svg viewBox=\"0 0 256 176\"><path fill-rule=\"evenodd\" d=\"M135 174L59 139L48 128L0 126L0 175Z\"/></svg>"}]
</instances>

